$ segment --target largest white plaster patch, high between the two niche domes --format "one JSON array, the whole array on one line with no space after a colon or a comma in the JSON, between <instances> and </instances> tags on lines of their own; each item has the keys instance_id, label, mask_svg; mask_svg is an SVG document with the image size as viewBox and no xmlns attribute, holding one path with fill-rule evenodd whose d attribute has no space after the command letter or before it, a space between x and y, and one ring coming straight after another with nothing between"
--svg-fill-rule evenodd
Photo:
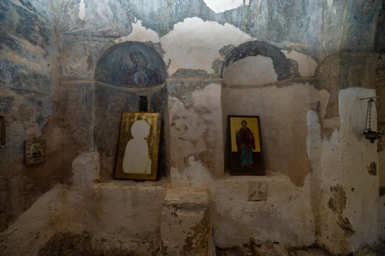
<instances>
[{"instance_id":1,"label":"largest white plaster patch, high between the two niche domes","mask_svg":"<svg viewBox=\"0 0 385 256\"><path fill-rule=\"evenodd\" d=\"M214 73L214 60L223 57L219 50L226 45L239 45L253 38L228 23L206 21L201 18L186 18L176 23L174 30L161 37L165 51L164 61L171 60L168 72L172 75L179 68L206 70Z\"/></svg>"}]
</instances>

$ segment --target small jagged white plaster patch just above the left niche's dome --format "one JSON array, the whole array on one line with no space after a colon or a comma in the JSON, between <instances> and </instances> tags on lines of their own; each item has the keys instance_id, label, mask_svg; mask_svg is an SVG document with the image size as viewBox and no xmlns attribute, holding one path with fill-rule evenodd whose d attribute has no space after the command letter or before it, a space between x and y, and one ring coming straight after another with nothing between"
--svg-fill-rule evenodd
<instances>
[{"instance_id":1,"label":"small jagged white plaster patch just above the left niche's dome","mask_svg":"<svg viewBox=\"0 0 385 256\"><path fill-rule=\"evenodd\" d=\"M137 20L136 23L132 23L132 32L125 37L115 39L115 43L122 43L127 41L137 41L137 42L152 42L159 43L159 36L150 28L142 26L142 21Z\"/></svg>"}]
</instances>

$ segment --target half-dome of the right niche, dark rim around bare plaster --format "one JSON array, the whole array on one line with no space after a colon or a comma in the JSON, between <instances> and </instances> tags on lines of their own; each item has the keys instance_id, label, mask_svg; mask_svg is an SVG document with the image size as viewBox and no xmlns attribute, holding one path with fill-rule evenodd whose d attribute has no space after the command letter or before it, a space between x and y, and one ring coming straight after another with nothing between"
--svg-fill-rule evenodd
<instances>
[{"instance_id":1,"label":"half-dome of the right niche, dark rim around bare plaster","mask_svg":"<svg viewBox=\"0 0 385 256\"><path fill-rule=\"evenodd\" d=\"M228 85L260 85L288 78L290 68L290 61L277 47L249 41L227 55L221 77Z\"/></svg>"}]
</instances>

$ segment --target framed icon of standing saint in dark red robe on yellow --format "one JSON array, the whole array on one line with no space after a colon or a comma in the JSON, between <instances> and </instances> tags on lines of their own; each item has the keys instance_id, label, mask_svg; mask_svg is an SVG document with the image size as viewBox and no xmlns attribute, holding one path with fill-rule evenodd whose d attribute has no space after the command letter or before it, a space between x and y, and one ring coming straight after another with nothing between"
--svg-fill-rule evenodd
<instances>
[{"instance_id":1,"label":"framed icon of standing saint in dark red robe on yellow","mask_svg":"<svg viewBox=\"0 0 385 256\"><path fill-rule=\"evenodd\" d=\"M228 116L231 175L265 175L259 116Z\"/></svg>"}]
</instances>

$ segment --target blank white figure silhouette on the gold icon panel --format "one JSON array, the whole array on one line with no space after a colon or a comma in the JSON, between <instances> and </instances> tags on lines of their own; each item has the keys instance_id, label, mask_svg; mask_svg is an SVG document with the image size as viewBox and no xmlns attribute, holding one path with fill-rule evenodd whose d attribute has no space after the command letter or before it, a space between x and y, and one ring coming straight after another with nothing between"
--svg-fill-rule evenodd
<instances>
[{"instance_id":1,"label":"blank white figure silhouette on the gold icon panel","mask_svg":"<svg viewBox=\"0 0 385 256\"><path fill-rule=\"evenodd\" d=\"M127 142L123 158L124 173L151 174L151 159L148 155L148 145L144 138L150 132L150 126L144 120L136 121L131 127L134 137Z\"/></svg>"}]
</instances>

